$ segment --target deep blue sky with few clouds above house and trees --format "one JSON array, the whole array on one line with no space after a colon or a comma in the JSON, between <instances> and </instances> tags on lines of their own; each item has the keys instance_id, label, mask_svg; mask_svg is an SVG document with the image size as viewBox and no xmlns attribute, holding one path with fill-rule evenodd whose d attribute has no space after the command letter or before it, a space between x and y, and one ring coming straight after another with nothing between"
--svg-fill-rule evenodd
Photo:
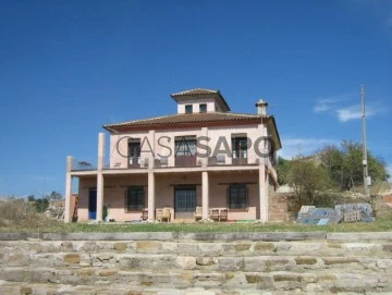
<instances>
[{"instance_id":1,"label":"deep blue sky with few clouds above house and trees","mask_svg":"<svg viewBox=\"0 0 392 295\"><path fill-rule=\"evenodd\" d=\"M64 194L102 124L173 114L170 94L269 102L285 158L360 142L392 172L392 1L0 1L0 196ZM109 153L109 151L107 151Z\"/></svg>"}]
</instances>

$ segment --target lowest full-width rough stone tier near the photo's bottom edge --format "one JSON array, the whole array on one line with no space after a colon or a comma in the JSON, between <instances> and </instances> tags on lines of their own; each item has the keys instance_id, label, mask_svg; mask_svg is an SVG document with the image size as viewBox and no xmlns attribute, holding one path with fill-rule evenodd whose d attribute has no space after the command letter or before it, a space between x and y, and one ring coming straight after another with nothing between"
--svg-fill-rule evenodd
<instances>
[{"instance_id":1,"label":"lowest full-width rough stone tier near the photo's bottom edge","mask_svg":"<svg viewBox=\"0 0 392 295\"><path fill-rule=\"evenodd\" d=\"M319 270L295 271L206 271L206 270L120 270L120 269L53 269L39 267L4 267L0 278L14 283L51 283L69 285L127 285L128 287L163 287L226 290L317 290L338 292L392 292L387 271ZM316 290L316 287L315 287Z\"/></svg>"}]
</instances>

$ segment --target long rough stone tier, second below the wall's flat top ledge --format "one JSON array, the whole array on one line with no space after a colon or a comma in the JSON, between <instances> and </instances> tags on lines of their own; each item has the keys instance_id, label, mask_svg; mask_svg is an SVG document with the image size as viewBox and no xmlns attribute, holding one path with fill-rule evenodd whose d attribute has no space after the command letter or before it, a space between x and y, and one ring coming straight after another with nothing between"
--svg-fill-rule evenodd
<instances>
[{"instance_id":1,"label":"long rough stone tier, second below the wall's flat top ledge","mask_svg":"<svg viewBox=\"0 0 392 295\"><path fill-rule=\"evenodd\" d=\"M1 268L47 267L53 269L101 268L119 270L208 270L208 271L296 271L334 269L341 271L382 272L392 269L391 258L376 255L345 256L186 256L175 254L132 253L22 253L1 256ZM0 270L1 273L1 270ZM1 276L0 276L1 279Z\"/></svg>"}]
</instances>

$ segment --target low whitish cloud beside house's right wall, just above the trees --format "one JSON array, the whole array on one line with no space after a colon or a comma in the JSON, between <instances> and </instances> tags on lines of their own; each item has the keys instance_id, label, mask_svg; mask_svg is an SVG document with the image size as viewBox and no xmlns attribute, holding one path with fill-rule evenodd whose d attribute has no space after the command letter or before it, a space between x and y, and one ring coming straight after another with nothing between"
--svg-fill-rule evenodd
<instances>
[{"instance_id":1,"label":"low whitish cloud beside house's right wall, just above the trees","mask_svg":"<svg viewBox=\"0 0 392 295\"><path fill-rule=\"evenodd\" d=\"M308 156L328 145L339 145L339 140L329 138L282 138L282 149L278 151L279 156L285 159L292 159L301 156Z\"/></svg>"}]
</instances>

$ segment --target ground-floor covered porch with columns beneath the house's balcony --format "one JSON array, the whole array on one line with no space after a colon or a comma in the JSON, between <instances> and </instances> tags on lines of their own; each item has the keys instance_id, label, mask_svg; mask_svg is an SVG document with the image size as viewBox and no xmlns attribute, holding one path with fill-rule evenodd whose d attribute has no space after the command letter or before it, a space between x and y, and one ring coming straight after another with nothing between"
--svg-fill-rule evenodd
<instances>
[{"instance_id":1,"label":"ground-floor covered porch with columns beneath the house's balcony","mask_svg":"<svg viewBox=\"0 0 392 295\"><path fill-rule=\"evenodd\" d=\"M79 222L268 220L268 175L260 168L71 175L75 176Z\"/></svg>"}]
</instances>

